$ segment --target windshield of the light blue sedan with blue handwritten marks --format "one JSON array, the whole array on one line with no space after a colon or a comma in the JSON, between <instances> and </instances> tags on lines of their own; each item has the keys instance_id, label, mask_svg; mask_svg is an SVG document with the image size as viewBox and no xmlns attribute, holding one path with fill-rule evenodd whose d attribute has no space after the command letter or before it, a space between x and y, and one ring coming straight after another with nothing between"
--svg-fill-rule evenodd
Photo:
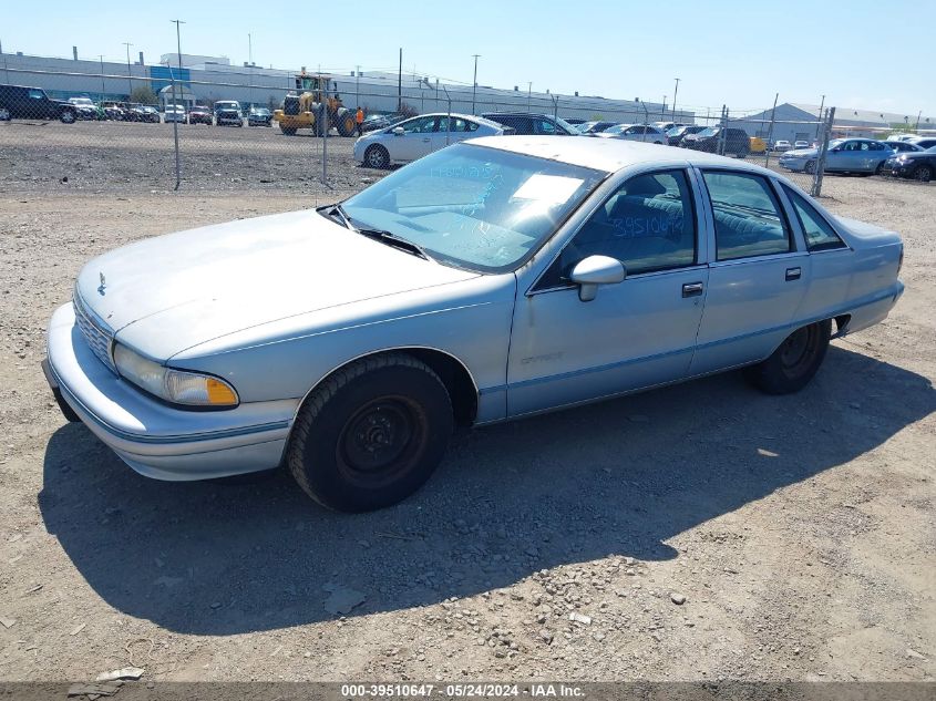
<instances>
[{"instance_id":1,"label":"windshield of the light blue sedan with blue handwritten marks","mask_svg":"<svg viewBox=\"0 0 936 701\"><path fill-rule=\"evenodd\" d=\"M514 270L607 174L456 144L388 175L343 203L357 228L382 229L444 265Z\"/></svg>"}]
</instances>

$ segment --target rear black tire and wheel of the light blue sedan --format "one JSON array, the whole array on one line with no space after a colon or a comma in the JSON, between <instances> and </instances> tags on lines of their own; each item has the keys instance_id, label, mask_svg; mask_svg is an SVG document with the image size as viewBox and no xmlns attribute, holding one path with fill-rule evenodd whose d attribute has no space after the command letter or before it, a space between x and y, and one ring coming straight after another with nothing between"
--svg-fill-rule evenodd
<instances>
[{"instance_id":1,"label":"rear black tire and wheel of the light blue sedan","mask_svg":"<svg viewBox=\"0 0 936 701\"><path fill-rule=\"evenodd\" d=\"M748 380L768 394L799 392L819 371L829 339L832 321L817 321L798 329L786 337L773 354L744 371Z\"/></svg>"}]
</instances>

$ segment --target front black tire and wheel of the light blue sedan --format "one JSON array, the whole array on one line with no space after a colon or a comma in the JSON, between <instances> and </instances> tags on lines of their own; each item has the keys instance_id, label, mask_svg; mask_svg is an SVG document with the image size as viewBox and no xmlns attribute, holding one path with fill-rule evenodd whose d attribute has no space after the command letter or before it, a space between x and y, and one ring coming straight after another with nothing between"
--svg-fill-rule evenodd
<instances>
[{"instance_id":1,"label":"front black tire and wheel of the light blue sedan","mask_svg":"<svg viewBox=\"0 0 936 701\"><path fill-rule=\"evenodd\" d=\"M306 399L286 464L322 506L383 508L429 480L453 425L449 392L429 365L404 353L364 358Z\"/></svg>"}]
</instances>

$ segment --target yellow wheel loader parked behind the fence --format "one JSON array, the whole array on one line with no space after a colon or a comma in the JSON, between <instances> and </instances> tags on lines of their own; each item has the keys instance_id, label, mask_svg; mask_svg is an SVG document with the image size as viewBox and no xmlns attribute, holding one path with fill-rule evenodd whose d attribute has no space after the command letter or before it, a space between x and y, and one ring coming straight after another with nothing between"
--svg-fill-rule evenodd
<instances>
[{"instance_id":1,"label":"yellow wheel loader parked behind the fence","mask_svg":"<svg viewBox=\"0 0 936 701\"><path fill-rule=\"evenodd\" d=\"M287 136L297 130L310 128L316 136L336 127L341 136L353 136L357 131L354 112L346 107L338 94L338 83L330 75L309 74L306 69L295 76L296 90L282 99L282 107L274 112L274 118Z\"/></svg>"}]
</instances>

